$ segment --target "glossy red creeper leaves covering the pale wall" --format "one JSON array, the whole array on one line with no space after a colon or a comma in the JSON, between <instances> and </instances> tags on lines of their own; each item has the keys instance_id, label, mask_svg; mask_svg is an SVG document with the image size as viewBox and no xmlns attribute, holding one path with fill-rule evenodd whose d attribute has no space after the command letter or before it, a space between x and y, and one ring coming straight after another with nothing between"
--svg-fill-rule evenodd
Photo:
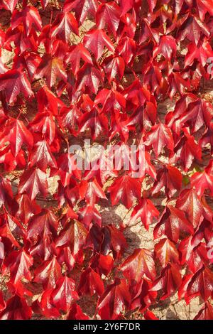
<instances>
[{"instance_id":1,"label":"glossy red creeper leaves covering the pale wall","mask_svg":"<svg viewBox=\"0 0 213 334\"><path fill-rule=\"evenodd\" d=\"M212 319L213 108L200 95L212 0L1 0L0 10L0 318L87 319L89 295L94 317L155 319L178 291L186 303L200 296L196 319ZM175 109L162 116L166 98ZM138 178L133 163L73 168L67 149L88 134L124 152L141 144ZM102 224L99 200L133 207L129 225L154 225L154 249L126 258L125 227Z\"/></svg>"}]
</instances>

